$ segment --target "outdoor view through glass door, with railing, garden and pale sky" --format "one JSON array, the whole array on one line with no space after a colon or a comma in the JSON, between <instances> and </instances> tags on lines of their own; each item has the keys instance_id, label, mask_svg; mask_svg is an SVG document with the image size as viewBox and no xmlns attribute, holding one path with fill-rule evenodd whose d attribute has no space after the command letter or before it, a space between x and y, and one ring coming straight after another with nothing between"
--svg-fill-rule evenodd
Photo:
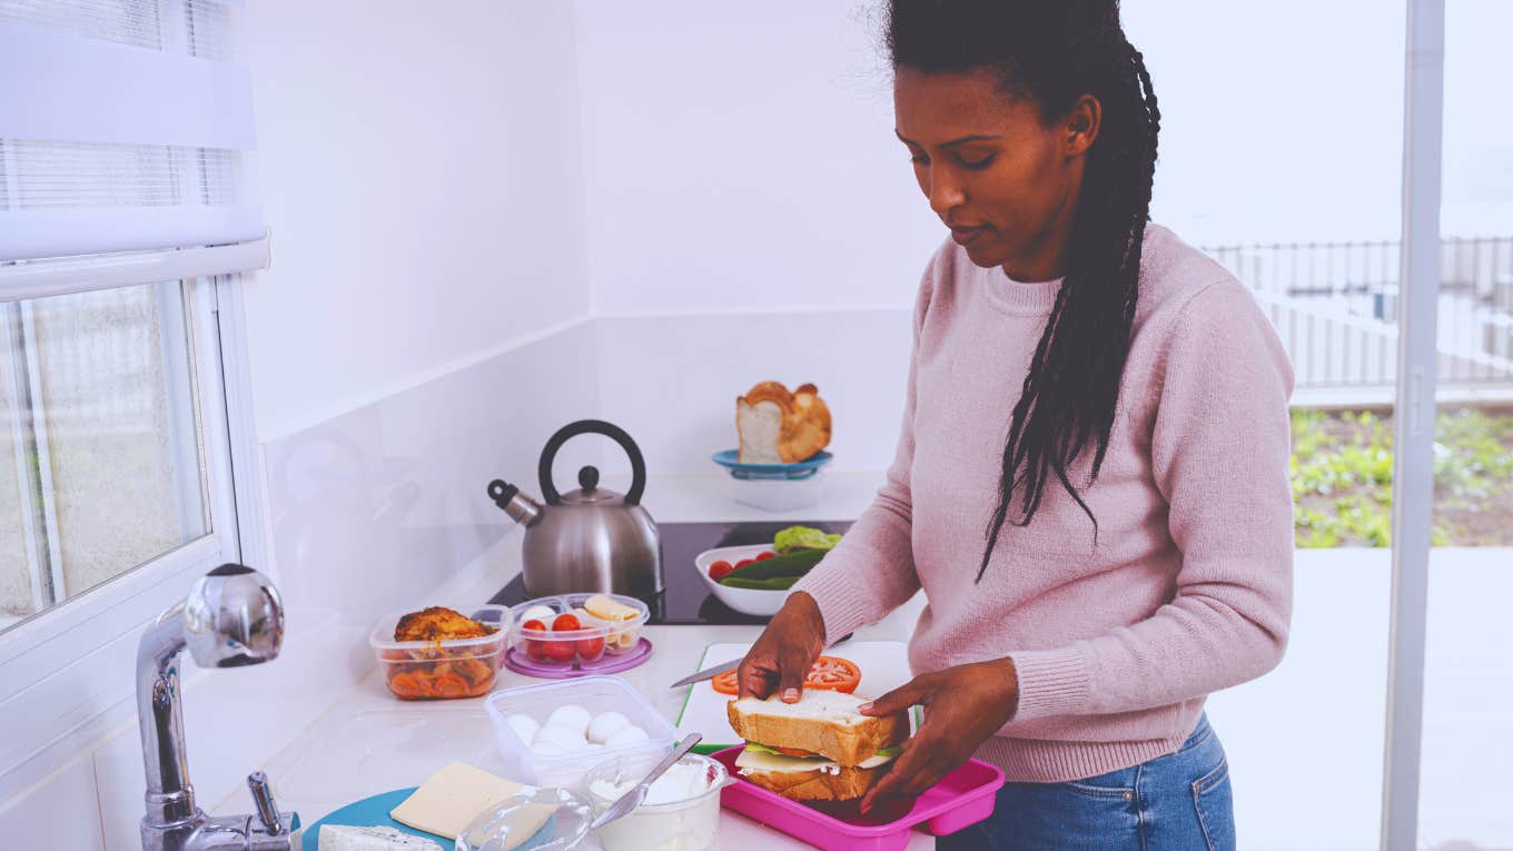
<instances>
[{"instance_id":1,"label":"outdoor view through glass door, with railing, garden and pale sky","mask_svg":"<svg viewBox=\"0 0 1513 851\"><path fill-rule=\"evenodd\" d=\"M1292 359L1294 633L1215 695L1244 848L1375 848L1392 569L1406 3L1127 5L1163 106L1156 221L1250 285ZM1180 27L1171 26L1182 18ZM1306 21L1306 26L1300 26ZM1192 39L1191 32L1245 33ZM1513 6L1451 0L1419 846L1513 846ZM1278 51L1277 45L1288 45ZM1348 61L1345 61L1348 59ZM1204 73L1204 68L1224 68ZM1219 177L1223 176L1223 177ZM1309 718L1303 707L1322 707ZM1480 733L1478 733L1480 731ZM1294 745L1278 753L1286 736ZM1300 751L1300 747L1303 751ZM1286 754L1327 754L1300 775ZM1277 813L1289 813L1277 818Z\"/></svg>"}]
</instances>

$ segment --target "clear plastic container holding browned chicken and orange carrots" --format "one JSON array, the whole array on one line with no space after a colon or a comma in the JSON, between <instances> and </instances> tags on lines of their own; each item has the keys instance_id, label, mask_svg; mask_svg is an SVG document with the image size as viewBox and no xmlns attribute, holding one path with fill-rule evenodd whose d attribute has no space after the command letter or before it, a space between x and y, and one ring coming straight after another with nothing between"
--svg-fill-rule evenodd
<instances>
[{"instance_id":1,"label":"clear plastic container holding browned chicken and orange carrots","mask_svg":"<svg viewBox=\"0 0 1513 851\"><path fill-rule=\"evenodd\" d=\"M508 609L504 606L448 606L486 625L487 636L452 641L393 641L399 618L395 612L378 621L368 644L378 654L384 683L399 700L477 698L493 690L495 675L508 648Z\"/></svg>"}]
</instances>

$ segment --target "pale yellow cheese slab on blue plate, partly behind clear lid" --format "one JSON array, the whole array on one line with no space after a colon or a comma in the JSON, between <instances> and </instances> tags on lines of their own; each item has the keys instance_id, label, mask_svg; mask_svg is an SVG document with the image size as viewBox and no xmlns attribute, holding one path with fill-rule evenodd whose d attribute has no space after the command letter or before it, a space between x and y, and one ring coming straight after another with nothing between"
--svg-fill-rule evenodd
<instances>
[{"instance_id":1,"label":"pale yellow cheese slab on blue plate, partly behind clear lid","mask_svg":"<svg viewBox=\"0 0 1513 851\"><path fill-rule=\"evenodd\" d=\"M390 810L389 818L415 830L455 839L480 813L519 789L520 784L513 780L452 762ZM510 830L505 849L534 836L554 812L554 807L539 804L520 807L507 822Z\"/></svg>"}]
</instances>

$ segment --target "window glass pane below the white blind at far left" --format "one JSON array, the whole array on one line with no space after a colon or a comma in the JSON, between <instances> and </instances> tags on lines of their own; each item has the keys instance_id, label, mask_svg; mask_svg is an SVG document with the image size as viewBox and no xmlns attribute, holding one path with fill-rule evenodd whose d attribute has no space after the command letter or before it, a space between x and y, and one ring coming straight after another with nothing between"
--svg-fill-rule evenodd
<instances>
[{"instance_id":1,"label":"window glass pane below the white blind at far left","mask_svg":"<svg viewBox=\"0 0 1513 851\"><path fill-rule=\"evenodd\" d=\"M0 304L0 628L215 528L195 292Z\"/></svg>"}]
</instances>

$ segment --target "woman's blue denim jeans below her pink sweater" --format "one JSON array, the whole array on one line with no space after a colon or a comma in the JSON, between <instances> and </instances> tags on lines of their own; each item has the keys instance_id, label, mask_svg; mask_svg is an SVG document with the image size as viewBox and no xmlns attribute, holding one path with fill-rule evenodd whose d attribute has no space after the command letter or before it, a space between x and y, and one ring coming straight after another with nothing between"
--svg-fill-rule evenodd
<instances>
[{"instance_id":1,"label":"woman's blue denim jeans below her pink sweater","mask_svg":"<svg viewBox=\"0 0 1513 851\"><path fill-rule=\"evenodd\" d=\"M988 821L941 851L1233 851L1224 747L1198 718L1174 754L1071 783L1006 783Z\"/></svg>"}]
</instances>

